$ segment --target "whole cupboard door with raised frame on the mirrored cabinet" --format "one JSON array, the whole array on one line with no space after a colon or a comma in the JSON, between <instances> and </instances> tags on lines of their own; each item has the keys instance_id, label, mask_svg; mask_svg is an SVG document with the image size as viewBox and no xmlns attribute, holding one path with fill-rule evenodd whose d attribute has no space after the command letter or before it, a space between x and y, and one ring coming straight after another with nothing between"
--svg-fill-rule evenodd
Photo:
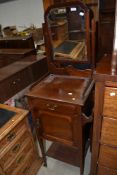
<instances>
[{"instance_id":1,"label":"whole cupboard door with raised frame on the mirrored cabinet","mask_svg":"<svg viewBox=\"0 0 117 175\"><path fill-rule=\"evenodd\" d=\"M79 121L77 116L69 116L48 111L33 111L33 115L36 116L35 122L39 129L39 134L51 141L59 141L67 145L78 144Z\"/></svg>"}]
</instances>

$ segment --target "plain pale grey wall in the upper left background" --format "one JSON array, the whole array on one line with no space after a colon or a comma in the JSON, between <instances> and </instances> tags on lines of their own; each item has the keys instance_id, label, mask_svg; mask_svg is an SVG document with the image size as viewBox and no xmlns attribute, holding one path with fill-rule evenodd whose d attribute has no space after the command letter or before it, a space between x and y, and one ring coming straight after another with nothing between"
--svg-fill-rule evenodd
<instances>
[{"instance_id":1,"label":"plain pale grey wall in the upper left background","mask_svg":"<svg viewBox=\"0 0 117 175\"><path fill-rule=\"evenodd\" d=\"M2 27L16 25L18 30L43 23L42 0L14 0L0 4L0 24Z\"/></svg>"}]
</instances>

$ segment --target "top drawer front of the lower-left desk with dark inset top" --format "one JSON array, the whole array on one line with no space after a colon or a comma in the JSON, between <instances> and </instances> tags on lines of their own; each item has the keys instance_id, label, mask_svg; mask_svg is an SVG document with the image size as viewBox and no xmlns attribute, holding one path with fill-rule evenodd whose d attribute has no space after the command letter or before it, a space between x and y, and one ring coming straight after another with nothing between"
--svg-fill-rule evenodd
<instances>
[{"instance_id":1,"label":"top drawer front of the lower-left desk with dark inset top","mask_svg":"<svg viewBox=\"0 0 117 175\"><path fill-rule=\"evenodd\" d=\"M1 140L0 152L2 152L4 148L6 148L9 144L12 144L12 142L17 138L20 132L23 132L25 130L27 130L27 124L26 121L23 120L14 129L12 129L3 140Z\"/></svg>"}]
</instances>

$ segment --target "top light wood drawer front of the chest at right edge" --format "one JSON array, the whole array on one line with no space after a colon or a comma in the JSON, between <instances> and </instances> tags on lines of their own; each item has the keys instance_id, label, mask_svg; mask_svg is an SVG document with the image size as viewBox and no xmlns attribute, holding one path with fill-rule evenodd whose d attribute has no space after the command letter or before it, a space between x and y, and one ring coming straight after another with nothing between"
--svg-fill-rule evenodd
<instances>
[{"instance_id":1,"label":"top light wood drawer front of the chest at right edge","mask_svg":"<svg viewBox=\"0 0 117 175\"><path fill-rule=\"evenodd\" d=\"M117 88L105 88L103 115L117 118Z\"/></svg>"}]
</instances>

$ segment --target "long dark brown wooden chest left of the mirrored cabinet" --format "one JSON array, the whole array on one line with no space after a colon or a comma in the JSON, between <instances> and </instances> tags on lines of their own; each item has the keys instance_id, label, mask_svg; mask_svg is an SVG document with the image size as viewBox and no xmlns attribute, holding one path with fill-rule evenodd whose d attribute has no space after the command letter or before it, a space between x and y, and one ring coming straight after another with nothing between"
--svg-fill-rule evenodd
<instances>
[{"instance_id":1,"label":"long dark brown wooden chest left of the mirrored cabinet","mask_svg":"<svg viewBox=\"0 0 117 175\"><path fill-rule=\"evenodd\" d=\"M5 102L48 73L45 56L27 56L0 69L0 102Z\"/></svg>"}]
</instances>

